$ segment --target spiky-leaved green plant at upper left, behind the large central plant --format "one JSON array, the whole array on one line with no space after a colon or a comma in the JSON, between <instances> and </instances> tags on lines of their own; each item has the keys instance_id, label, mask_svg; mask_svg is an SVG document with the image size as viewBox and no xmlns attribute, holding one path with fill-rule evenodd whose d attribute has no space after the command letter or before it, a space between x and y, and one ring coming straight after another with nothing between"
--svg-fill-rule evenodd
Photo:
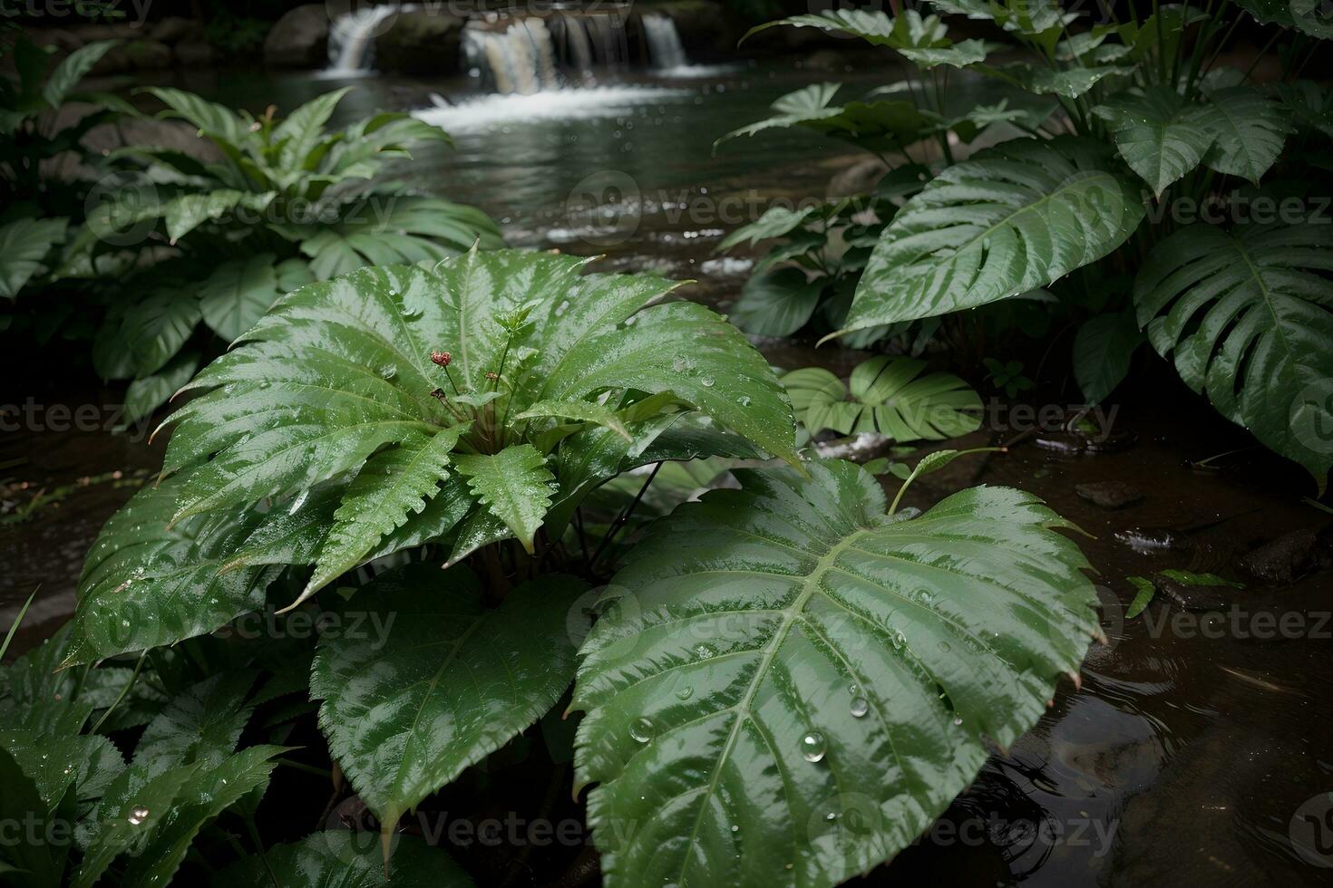
<instances>
[{"instance_id":1,"label":"spiky-leaved green plant at upper left, behind the large central plant","mask_svg":"<svg viewBox=\"0 0 1333 888\"><path fill-rule=\"evenodd\" d=\"M145 92L167 105L159 117L188 121L211 148L113 152L119 178L95 196L64 269L105 278L108 266L148 265L105 296L93 350L104 378L132 379L128 421L160 406L213 342L235 341L281 293L376 262L500 245L480 210L376 178L413 145L449 144L436 126L385 112L329 130L348 89L285 118L272 107L256 118L179 89Z\"/></svg>"}]
</instances>

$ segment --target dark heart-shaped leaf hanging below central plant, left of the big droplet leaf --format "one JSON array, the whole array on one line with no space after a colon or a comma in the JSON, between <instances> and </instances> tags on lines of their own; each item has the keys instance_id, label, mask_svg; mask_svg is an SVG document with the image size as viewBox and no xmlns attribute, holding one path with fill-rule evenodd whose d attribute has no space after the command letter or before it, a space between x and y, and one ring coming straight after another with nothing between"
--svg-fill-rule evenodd
<instances>
[{"instance_id":1,"label":"dark heart-shaped leaf hanging below central plant, left of the big droplet leaf","mask_svg":"<svg viewBox=\"0 0 1333 888\"><path fill-rule=\"evenodd\" d=\"M545 575L493 610L464 567L415 563L343 607L383 631L328 634L311 670L329 750L387 831L555 704L573 676L584 584Z\"/></svg>"}]
</instances>

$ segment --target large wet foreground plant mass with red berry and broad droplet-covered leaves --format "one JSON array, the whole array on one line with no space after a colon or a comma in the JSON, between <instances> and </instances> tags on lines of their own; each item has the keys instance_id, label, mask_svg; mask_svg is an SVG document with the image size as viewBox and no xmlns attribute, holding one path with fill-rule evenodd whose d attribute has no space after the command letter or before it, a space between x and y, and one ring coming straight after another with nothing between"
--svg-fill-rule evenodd
<instances>
[{"instance_id":1,"label":"large wet foreground plant mass with red berry and broad droplet-covered leaves","mask_svg":"<svg viewBox=\"0 0 1333 888\"><path fill-rule=\"evenodd\" d=\"M372 884L383 836L393 884L467 884L399 837L401 819L545 743L575 759L577 789L596 784L609 885L832 885L910 843L988 744L1036 722L1097 634L1069 525L1004 487L900 509L956 451L921 458L892 503L853 463L801 461L786 393L736 328L666 301L670 281L588 264L473 249L308 284L187 386L164 477L107 523L72 626L8 672L0 707L31 722L60 699L76 718L40 738L111 760L13 796L39 816L92 805L77 861L29 884L61 865L79 884L167 881L201 829L216 865L204 824L231 811L253 827L275 763L328 772L317 743L292 748L307 696L356 793L340 809L379 829L268 848L252 828L233 841L261 859L227 879ZM700 458L680 495L724 469L738 489L613 547L663 463ZM605 483L637 493L597 542L584 511ZM239 628L269 606L379 630L304 644ZM135 675L151 694L127 690ZM103 696L52 684L80 676ZM547 727L561 710L583 714L564 758ZM121 718L148 722L128 766L104 739ZM0 744L12 785L56 767ZM834 828L860 816L869 829Z\"/></svg>"}]
</instances>

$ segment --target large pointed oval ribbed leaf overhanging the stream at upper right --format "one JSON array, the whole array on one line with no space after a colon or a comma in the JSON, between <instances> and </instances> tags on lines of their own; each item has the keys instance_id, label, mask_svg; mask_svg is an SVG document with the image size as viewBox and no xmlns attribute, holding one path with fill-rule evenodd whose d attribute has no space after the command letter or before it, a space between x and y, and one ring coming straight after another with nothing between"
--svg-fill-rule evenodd
<instances>
[{"instance_id":1,"label":"large pointed oval ribbed leaf overhanging the stream at upper right","mask_svg":"<svg viewBox=\"0 0 1333 888\"><path fill-rule=\"evenodd\" d=\"M1106 256L1144 217L1137 182L1109 161L1058 137L949 166L884 230L841 333L996 302Z\"/></svg>"}]
</instances>

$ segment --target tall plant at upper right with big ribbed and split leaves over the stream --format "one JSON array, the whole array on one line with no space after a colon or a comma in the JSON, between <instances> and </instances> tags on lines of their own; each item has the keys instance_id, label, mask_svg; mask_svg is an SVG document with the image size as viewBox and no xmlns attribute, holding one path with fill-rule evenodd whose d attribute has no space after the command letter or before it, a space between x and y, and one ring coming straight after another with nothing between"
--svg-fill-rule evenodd
<instances>
[{"instance_id":1,"label":"tall plant at upper right with big ribbed and split leaves over the stream","mask_svg":"<svg viewBox=\"0 0 1333 888\"><path fill-rule=\"evenodd\" d=\"M933 170L884 226L829 337L1049 288L1080 325L1074 377L1089 402L1124 379L1146 332L1192 389L1322 490L1333 465L1317 431L1333 423L1321 382L1333 371L1333 284L1328 217L1306 197L1328 178L1310 149L1326 148L1333 128L1320 89L1298 77L1333 27L1313 5L1253 0L1154 7L1128 21L1108 9L1109 23L1086 27L1053 0L930 5L938 15L830 11L774 23L885 47L920 83L841 107L830 105L834 85L813 88L741 130L873 137L868 146L896 152L897 169ZM953 43L940 17L950 15L989 21L1025 59L996 64L993 45ZM1254 65L1216 64L1244 21L1281 47L1281 83L1256 83ZM978 80L1045 111L978 101ZM982 122L1000 124L988 141L1002 141L956 158ZM1232 224L1196 221L1214 217Z\"/></svg>"}]
</instances>

